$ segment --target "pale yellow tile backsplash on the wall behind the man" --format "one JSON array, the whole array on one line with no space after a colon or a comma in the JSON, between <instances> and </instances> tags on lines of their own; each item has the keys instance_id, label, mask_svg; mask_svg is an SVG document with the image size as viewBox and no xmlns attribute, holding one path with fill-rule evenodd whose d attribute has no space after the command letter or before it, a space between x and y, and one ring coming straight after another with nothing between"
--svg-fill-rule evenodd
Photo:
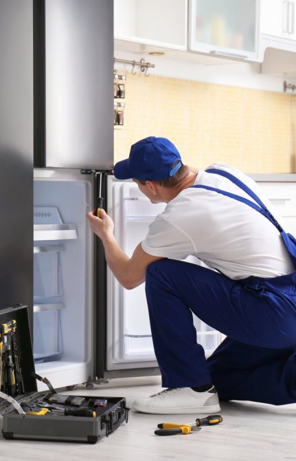
<instances>
[{"instance_id":1,"label":"pale yellow tile backsplash on the wall behind the man","mask_svg":"<svg viewBox=\"0 0 296 461\"><path fill-rule=\"evenodd\" d=\"M201 169L226 162L245 173L296 172L291 94L127 72L125 105L115 162L137 140L163 136Z\"/></svg>"}]
</instances>

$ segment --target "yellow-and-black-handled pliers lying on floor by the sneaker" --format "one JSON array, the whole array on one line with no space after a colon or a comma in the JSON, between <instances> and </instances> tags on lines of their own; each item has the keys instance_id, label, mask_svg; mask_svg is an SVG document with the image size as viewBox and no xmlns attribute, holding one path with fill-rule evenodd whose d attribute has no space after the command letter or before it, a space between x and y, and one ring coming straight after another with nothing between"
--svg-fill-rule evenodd
<instances>
[{"instance_id":1,"label":"yellow-and-black-handled pliers lying on floor by the sneaker","mask_svg":"<svg viewBox=\"0 0 296 461\"><path fill-rule=\"evenodd\" d=\"M222 422L223 418L220 415L209 415L205 418L196 418L195 422L188 424L177 424L176 422L161 422L155 431L157 436L174 436L177 433L191 433L199 431L200 426L214 426Z\"/></svg>"}]
</instances>

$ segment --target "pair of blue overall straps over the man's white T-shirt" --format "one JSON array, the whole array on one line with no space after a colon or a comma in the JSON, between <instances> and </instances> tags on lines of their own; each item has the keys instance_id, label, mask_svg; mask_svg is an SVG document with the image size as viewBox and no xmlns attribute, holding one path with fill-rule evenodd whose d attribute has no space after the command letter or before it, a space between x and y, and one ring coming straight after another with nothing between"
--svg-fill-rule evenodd
<instances>
[{"instance_id":1,"label":"pair of blue overall straps over the man's white T-shirt","mask_svg":"<svg viewBox=\"0 0 296 461\"><path fill-rule=\"evenodd\" d=\"M280 233L283 232L282 226L277 222L277 220L273 217L273 215L270 213L270 211L266 208L264 203L260 200L258 195L256 195L248 186L246 186L242 181L238 180L234 175L231 175L231 173L228 173L227 171L223 170L218 170L218 169L207 169L205 170L206 173L214 173L216 175L224 176L225 178L229 179L231 182L234 182L236 186L238 186L242 191L247 193L257 204L254 202L251 202L251 200L241 197L240 195L236 195L234 193L230 193L227 191L223 191L222 189L216 189L215 187L211 186L202 186L199 184L196 184L192 187L195 189L207 189L208 191L214 191L217 193L220 193L222 195L226 195L227 197L233 198L234 200L238 200L239 202L242 202L248 206L251 206L254 210L258 211L258 213L261 213L263 216L265 216L269 221L279 230Z\"/></svg>"}]
</instances>

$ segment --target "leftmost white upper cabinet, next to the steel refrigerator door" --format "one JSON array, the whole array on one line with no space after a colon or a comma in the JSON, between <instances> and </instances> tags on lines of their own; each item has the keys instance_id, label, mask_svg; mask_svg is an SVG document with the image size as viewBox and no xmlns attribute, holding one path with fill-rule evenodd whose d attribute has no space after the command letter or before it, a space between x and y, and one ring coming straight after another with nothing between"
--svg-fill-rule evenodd
<instances>
[{"instance_id":1,"label":"leftmost white upper cabinet, next to the steel refrigerator door","mask_svg":"<svg viewBox=\"0 0 296 461\"><path fill-rule=\"evenodd\" d=\"M187 0L114 0L115 39L187 49Z\"/></svg>"}]
</instances>

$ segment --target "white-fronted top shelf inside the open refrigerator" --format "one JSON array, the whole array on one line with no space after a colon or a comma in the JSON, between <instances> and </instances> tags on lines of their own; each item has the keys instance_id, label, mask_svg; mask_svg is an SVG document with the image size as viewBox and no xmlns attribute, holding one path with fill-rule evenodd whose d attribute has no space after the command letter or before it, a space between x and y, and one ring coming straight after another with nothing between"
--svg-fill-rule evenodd
<instances>
[{"instance_id":1,"label":"white-fronted top shelf inside the open refrigerator","mask_svg":"<svg viewBox=\"0 0 296 461\"><path fill-rule=\"evenodd\" d=\"M35 224L34 242L77 239L75 224Z\"/></svg>"}]
</instances>

